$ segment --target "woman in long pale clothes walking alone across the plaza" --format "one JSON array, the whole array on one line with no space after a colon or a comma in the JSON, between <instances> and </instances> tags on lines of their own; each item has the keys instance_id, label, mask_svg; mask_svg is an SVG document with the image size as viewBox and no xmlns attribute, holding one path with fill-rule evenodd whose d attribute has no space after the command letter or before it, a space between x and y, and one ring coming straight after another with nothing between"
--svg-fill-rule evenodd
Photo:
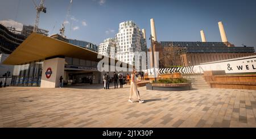
<instances>
[{"instance_id":1,"label":"woman in long pale clothes walking alone across the plaza","mask_svg":"<svg viewBox=\"0 0 256 139\"><path fill-rule=\"evenodd\" d=\"M133 100L131 100L131 98L135 93L137 95L137 99L139 100L139 103L143 103L144 100L141 100L141 96L139 95L139 91L137 89L137 82L141 82L141 81L137 81L135 74L137 74L137 71L133 69L133 72L131 73L131 89L130 89L130 96L129 96L128 102L133 103Z\"/></svg>"}]
</instances>

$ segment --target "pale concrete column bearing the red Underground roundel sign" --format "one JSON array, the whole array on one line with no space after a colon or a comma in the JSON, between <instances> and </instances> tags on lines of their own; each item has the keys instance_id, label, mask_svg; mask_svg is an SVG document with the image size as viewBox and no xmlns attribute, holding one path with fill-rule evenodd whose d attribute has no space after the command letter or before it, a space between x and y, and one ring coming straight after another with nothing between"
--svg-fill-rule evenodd
<instances>
[{"instance_id":1,"label":"pale concrete column bearing the red Underground roundel sign","mask_svg":"<svg viewBox=\"0 0 256 139\"><path fill-rule=\"evenodd\" d=\"M65 58L52 58L43 64L41 85L42 88L60 86L60 76L64 79Z\"/></svg>"}]
</instances>

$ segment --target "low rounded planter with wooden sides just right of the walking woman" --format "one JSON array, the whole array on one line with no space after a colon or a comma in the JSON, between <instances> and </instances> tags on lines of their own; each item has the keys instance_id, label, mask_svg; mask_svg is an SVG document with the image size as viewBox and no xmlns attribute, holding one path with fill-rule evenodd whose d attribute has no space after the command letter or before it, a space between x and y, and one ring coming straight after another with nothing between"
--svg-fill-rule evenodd
<instances>
[{"instance_id":1,"label":"low rounded planter with wooden sides just right of the walking woman","mask_svg":"<svg viewBox=\"0 0 256 139\"><path fill-rule=\"evenodd\" d=\"M147 90L186 91L191 90L191 83L147 83Z\"/></svg>"}]
</instances>

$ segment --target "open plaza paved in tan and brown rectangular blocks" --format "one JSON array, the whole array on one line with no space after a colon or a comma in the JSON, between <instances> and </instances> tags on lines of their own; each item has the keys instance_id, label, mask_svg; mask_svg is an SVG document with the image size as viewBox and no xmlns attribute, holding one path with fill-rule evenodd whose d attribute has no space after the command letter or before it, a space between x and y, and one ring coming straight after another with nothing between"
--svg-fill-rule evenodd
<instances>
[{"instance_id":1,"label":"open plaza paved in tan and brown rectangular blocks","mask_svg":"<svg viewBox=\"0 0 256 139\"><path fill-rule=\"evenodd\" d=\"M256 90L0 89L0 127L256 127Z\"/></svg>"}]
</instances>

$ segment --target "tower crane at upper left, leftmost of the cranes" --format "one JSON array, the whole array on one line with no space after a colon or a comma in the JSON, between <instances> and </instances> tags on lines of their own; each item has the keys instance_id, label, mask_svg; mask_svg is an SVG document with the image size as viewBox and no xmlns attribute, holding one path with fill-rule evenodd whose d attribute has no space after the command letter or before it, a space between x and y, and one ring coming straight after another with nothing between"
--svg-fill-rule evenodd
<instances>
[{"instance_id":1,"label":"tower crane at upper left, leftmost of the cranes","mask_svg":"<svg viewBox=\"0 0 256 139\"><path fill-rule=\"evenodd\" d=\"M34 26L33 32L38 32L40 12L46 13L46 6L44 6L44 0L41 0L40 4L38 6L36 5L34 0L32 0L32 1L35 5L35 9L36 9L36 20L35 20L35 26Z\"/></svg>"}]
</instances>

